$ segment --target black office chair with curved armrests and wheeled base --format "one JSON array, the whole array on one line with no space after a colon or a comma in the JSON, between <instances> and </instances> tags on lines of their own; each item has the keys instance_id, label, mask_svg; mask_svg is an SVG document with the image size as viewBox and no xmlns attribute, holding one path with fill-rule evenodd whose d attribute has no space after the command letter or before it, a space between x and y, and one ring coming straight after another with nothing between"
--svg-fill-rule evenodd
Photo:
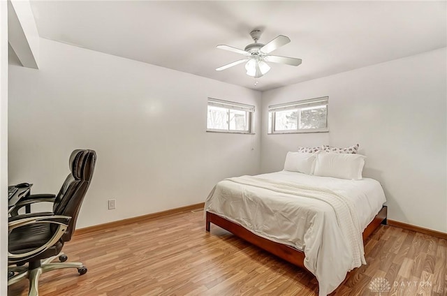
<instances>
[{"instance_id":1,"label":"black office chair with curved armrests and wheeled base","mask_svg":"<svg viewBox=\"0 0 447 296\"><path fill-rule=\"evenodd\" d=\"M82 263L54 262L61 256L65 242L70 241L76 220L91 181L96 162L93 150L75 150L70 156L71 174L54 196L53 212L10 216L8 219L8 286L29 279L29 296L38 295L38 279L54 269L77 268L87 272ZM26 265L28 263L28 265ZM20 266L23 265L23 266Z\"/></svg>"}]
</instances>

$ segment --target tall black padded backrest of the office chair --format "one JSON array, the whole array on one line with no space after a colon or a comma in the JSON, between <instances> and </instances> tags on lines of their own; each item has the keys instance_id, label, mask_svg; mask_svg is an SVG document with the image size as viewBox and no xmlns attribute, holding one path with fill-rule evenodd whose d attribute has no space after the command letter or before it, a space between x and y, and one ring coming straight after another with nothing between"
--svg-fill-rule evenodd
<instances>
[{"instance_id":1,"label":"tall black padded backrest of the office chair","mask_svg":"<svg viewBox=\"0 0 447 296\"><path fill-rule=\"evenodd\" d=\"M78 149L71 153L68 161L71 174L66 177L53 205L54 214L72 217L64 236L61 237L64 242L68 242L75 231L76 220L82 200L89 188L95 163L96 152L94 150Z\"/></svg>"}]
</instances>

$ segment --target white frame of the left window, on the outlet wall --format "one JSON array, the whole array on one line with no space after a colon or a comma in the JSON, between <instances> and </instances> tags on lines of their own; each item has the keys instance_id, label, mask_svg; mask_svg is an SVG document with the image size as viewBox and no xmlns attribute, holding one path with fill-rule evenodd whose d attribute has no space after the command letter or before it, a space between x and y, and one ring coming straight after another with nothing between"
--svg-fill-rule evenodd
<instances>
[{"instance_id":1,"label":"white frame of the left window, on the outlet wall","mask_svg":"<svg viewBox=\"0 0 447 296\"><path fill-rule=\"evenodd\" d=\"M219 129L219 128L208 128L208 107L214 106L219 108L225 108L227 109L228 114L228 121L227 126L228 129ZM230 114L231 110L237 110L237 111L244 111L246 120L247 120L247 130L241 131L241 130L232 130L230 129ZM207 100L207 132L210 133L242 133L242 134L248 134L248 135L254 135L254 112L255 112L255 106L254 105L247 105L243 103L237 103L232 101L225 101L225 100L219 100L218 98L208 98Z\"/></svg>"}]
</instances>

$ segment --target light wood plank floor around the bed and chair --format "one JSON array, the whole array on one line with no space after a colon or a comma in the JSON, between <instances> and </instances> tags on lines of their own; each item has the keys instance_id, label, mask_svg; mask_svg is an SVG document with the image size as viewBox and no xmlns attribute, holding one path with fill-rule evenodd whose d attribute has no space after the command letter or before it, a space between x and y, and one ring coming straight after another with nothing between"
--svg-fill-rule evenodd
<instances>
[{"instance_id":1,"label":"light wood plank floor around the bed and chair","mask_svg":"<svg viewBox=\"0 0 447 296\"><path fill-rule=\"evenodd\" d=\"M75 235L64 252L89 271L43 274L41 296L318 295L312 274L215 225L205 232L202 211ZM447 295L445 239L381 225L365 257L368 265L332 295ZM16 283L8 296L27 295L27 289L27 281Z\"/></svg>"}]
</instances>

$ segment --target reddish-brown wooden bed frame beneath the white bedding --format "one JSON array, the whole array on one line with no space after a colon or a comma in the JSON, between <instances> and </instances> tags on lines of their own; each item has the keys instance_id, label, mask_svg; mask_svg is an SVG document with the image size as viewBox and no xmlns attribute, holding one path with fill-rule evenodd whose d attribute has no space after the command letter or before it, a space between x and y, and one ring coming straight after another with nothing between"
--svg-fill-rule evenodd
<instances>
[{"instance_id":1,"label":"reddish-brown wooden bed frame beneath the white bedding","mask_svg":"<svg viewBox=\"0 0 447 296\"><path fill-rule=\"evenodd\" d=\"M384 205L379 214L374 217L372 222L367 225L367 228L365 228L365 231L363 231L364 244L369 235L371 235L372 232L374 232L374 230L379 227L379 225L386 224L386 216L387 207L386 205ZM228 221L227 219L222 218L217 214L206 212L205 228L207 232L210 232L210 223L228 230L229 232L233 233L233 235L245 239L247 242L258 246L259 248L264 249L265 251L268 251L269 253L272 253L279 258L286 260L287 262L291 262L293 265L297 265L299 267L307 269L304 264L305 253L293 248L292 246L287 246L286 244L280 244L278 242L272 242L269 239L265 239L264 237L255 235L253 232L247 230L237 223Z\"/></svg>"}]
</instances>

